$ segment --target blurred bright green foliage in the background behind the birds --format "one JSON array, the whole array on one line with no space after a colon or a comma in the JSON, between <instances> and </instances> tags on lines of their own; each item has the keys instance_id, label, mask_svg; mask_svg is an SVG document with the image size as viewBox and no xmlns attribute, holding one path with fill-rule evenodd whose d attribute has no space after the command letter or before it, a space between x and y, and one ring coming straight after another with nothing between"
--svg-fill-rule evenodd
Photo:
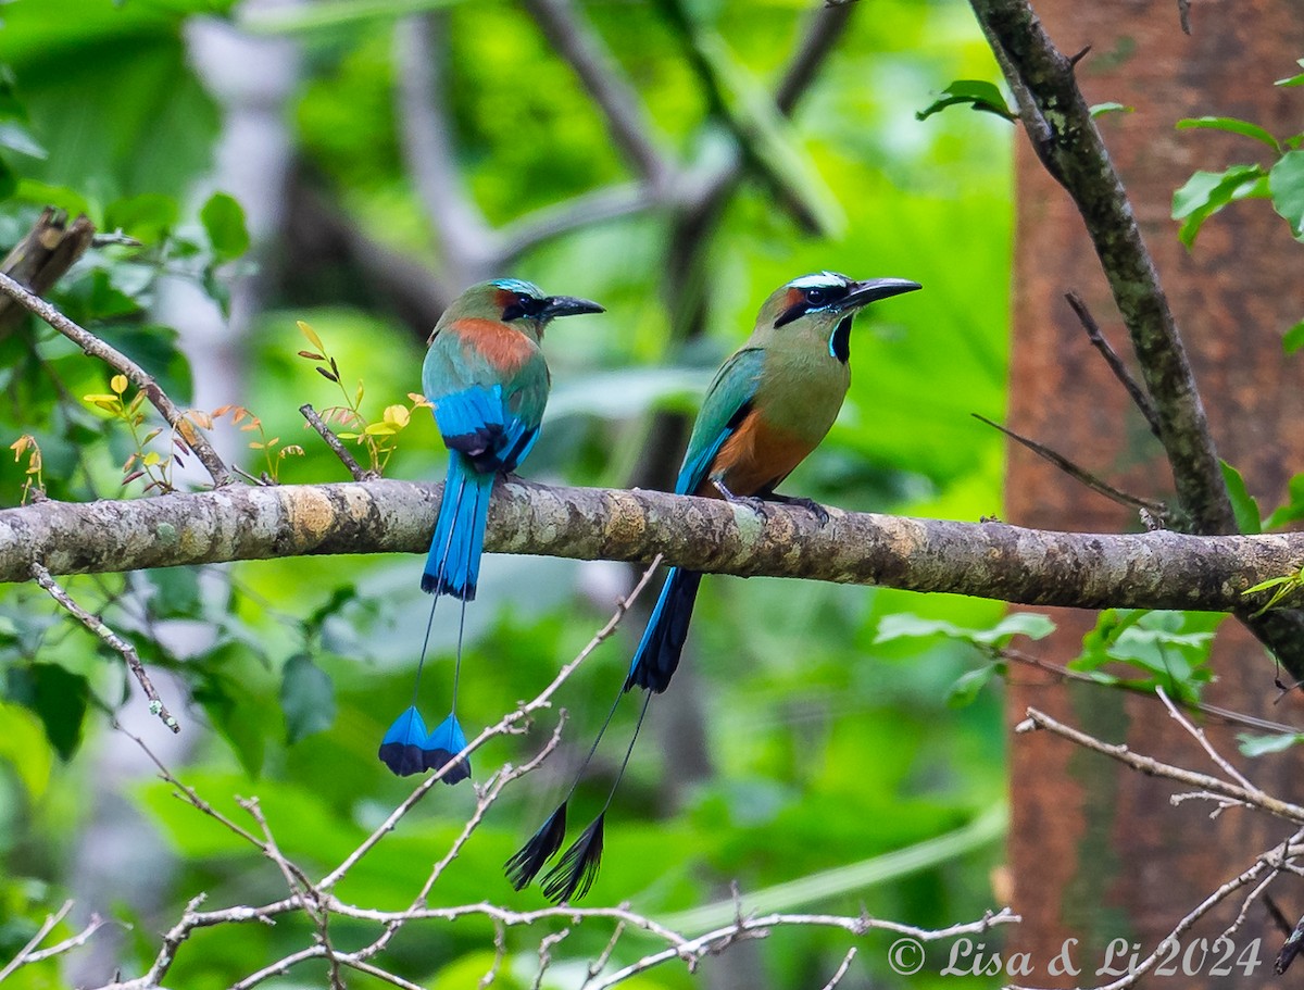
<instances>
[{"instance_id":1,"label":"blurred bright green foliage in the background behind the birds","mask_svg":"<svg viewBox=\"0 0 1304 990\"><path fill-rule=\"evenodd\" d=\"M16 241L46 202L85 210L102 228L121 227L142 241L93 250L53 299L156 374L180 403L190 400L192 378L205 369L192 368L184 340L151 318L158 278L181 274L220 296L248 244L239 203L226 196L192 200L213 166L222 111L189 67L184 29L188 18L220 14L223 7L21 0L4 8L0 33L0 61L14 80L0 102L12 100L7 119L33 142L25 151L20 137L0 141L0 158L14 176L9 187L0 181L0 243ZM325 27L321 21L344 14L321 7L317 23L289 25L303 55L303 78L287 112L296 167L316 176L368 235L437 270L438 247L399 154L396 5L360 4ZM720 57L732 59L739 99L748 85L741 80L772 83L808 13L805 4L778 1L689 7L715 39L713 51L720 55L726 46ZM645 100L657 140L685 155L709 147L719 138L711 102L657 9L610 3L582 9ZM305 17L312 12L305 8ZM627 177L600 113L523 8L452 4L446 17L463 181L492 222ZM288 22L250 23L279 31ZM1005 404L1011 128L978 113L917 120L956 78L996 78L964 4L876 0L872 12L857 12L792 123L776 132L795 155L785 159L786 173L812 170L845 222L831 236L803 235L776 207L769 188L743 184L705 254L711 292L700 340L666 343L665 217L582 228L522 257L510 274L608 308L601 321L562 321L549 330L554 397L527 473L625 484L647 442L649 413L694 410L711 370L746 337L759 301L794 275L836 269L861 278L911 278L926 291L862 317L842 416L788 490L848 509L962 519L999 513L1000 437L969 413L999 419ZM293 267L295 245L278 250L275 265ZM338 390L313 361L297 356L304 343L296 321L309 322L325 340L347 390L365 382L363 407L373 421L417 387L422 342L394 314L357 308L357 292L347 286L310 278L295 284L293 293L273 291L240 342L246 380L228 400L249 408L265 436L305 447L305 457L280 464L282 483L340 480L339 463L304 432L297 412L305 402L318 408L338 402ZM29 323L0 339L3 434L35 438L51 497L140 494L138 485L121 487L121 464L133 453L129 438L81 400L104 393L107 382L103 367L42 326ZM257 438L230 421L218 430L230 430L236 449ZM262 457L250 450L243 463L257 473ZM442 463L430 417L419 411L387 473L437 479ZM21 458L0 463L4 505L22 497L26 468ZM69 579L67 587L129 637L146 664L173 674L166 693L190 745L173 770L237 820L246 819L232 796L258 794L284 852L309 873L322 873L411 790L411 781L385 773L376 746L408 703L429 603L416 574L415 560L312 557ZM627 579L613 565L486 560L480 597L468 612L463 719L488 723L537 693L605 621ZM784 908L855 914L863 905L870 914L921 926L973 920L995 907L990 877L1000 862L1004 801L999 685L970 680L970 703L952 707L953 686L987 657L964 638L935 635L947 631L940 626L883 635L901 613L987 630L998 627L1003 608L940 595L708 578L687 657L692 674L681 676L653 704L649 740L609 817L606 862L588 903L629 900L665 917L726 899L729 882L737 880L745 895L773 890ZM619 685L636 631L627 621L567 685L559 699L571 713L563 754L492 809L432 903L542 904L537 891L510 890L502 862L565 787L574 757ZM455 634L455 623L436 625L434 663L422 689L432 695L446 689ZM120 657L65 622L39 588L4 591L0 963L74 890L68 850L96 814L82 798L112 737L111 713L124 703L142 706L129 698ZM711 772L682 780L662 750L673 732L668 711L689 702L700 710ZM615 738L632 728L630 708L617 715ZM481 751L477 773L502 760L520 762L550 727L545 716L528 737ZM149 732L163 730L151 724ZM198 891L209 893L210 907L284 892L269 863L176 801L145 758L138 762L132 797L150 823L140 841L156 845L160 861L171 860L167 893L143 905L89 905L134 925L121 940L124 973L147 965L158 948L154 933ZM596 810L614 771L614 763L604 763L589 775L574 806L576 820ZM472 806L469 788L441 788L363 861L339 895L361 905L407 904ZM947 836L943 852L918 857L909 870L887 871L888 880L863 879L876 875L865 871L866 863L915 847L935 849L928 843ZM819 878L814 893L784 901L795 895L782 884L808 877ZM69 931L65 923L56 937ZM372 934L360 923L333 926L340 944ZM541 934L509 933L498 986L529 986ZM610 926L580 926L554 948L545 986L578 982L609 935ZM429 986L469 986L493 960L492 939L492 926L476 920L455 927L413 925L395 939L387 964ZM295 921L205 931L180 953L168 982L228 986L310 940ZM852 977L858 982L849 986L964 985L930 978L940 961L909 981L893 976L885 963L889 940L865 940ZM615 960L629 961L648 944L631 934ZM758 955L768 985L814 986L832 973L845 946L845 935L801 929L747 951ZM704 968L724 965L709 960ZM12 982L47 986L56 972L57 963L40 964ZM275 985L321 976L296 970ZM682 967L669 965L631 986L694 982ZM372 982L356 977L351 985Z\"/></svg>"}]
</instances>

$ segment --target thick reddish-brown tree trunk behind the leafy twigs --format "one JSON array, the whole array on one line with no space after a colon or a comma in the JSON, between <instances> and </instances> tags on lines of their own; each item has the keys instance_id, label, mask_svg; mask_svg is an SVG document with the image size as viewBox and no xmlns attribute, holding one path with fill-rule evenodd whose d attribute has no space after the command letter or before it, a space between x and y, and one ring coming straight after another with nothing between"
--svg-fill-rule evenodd
<instances>
[{"instance_id":1,"label":"thick reddish-brown tree trunk behind the leafy twigs","mask_svg":"<svg viewBox=\"0 0 1304 990\"><path fill-rule=\"evenodd\" d=\"M1304 21L1291 0L1194 4L1191 37L1179 27L1178 5L1137 0L1039 0L1041 16L1060 51L1090 52L1078 82L1090 103L1134 107L1099 119L1104 141L1132 198L1146 243L1174 307L1219 455L1245 476L1265 509L1284 500L1288 477L1304 471L1304 391L1297 357L1282 353L1282 331L1304 318L1299 292L1300 245L1264 201L1237 203L1210 220L1192 252L1178 241L1170 219L1174 189L1200 168L1264 160L1256 142L1210 130L1174 128L1181 117L1236 116L1278 136L1300 130L1299 90L1273 81L1291 74L1304 51ZM1015 258L1015 340L1011 427L1098 472L1132 494L1171 497L1172 484L1158 442L1131 404L1064 303L1078 291L1115 350L1127 351L1104 278L1064 190L1020 138L1018 218ZM1118 531L1138 528L1134 514L1059 473L1018 446L1011 449L1007 511L1021 526ZM1058 612L1060 633L1045 652L1067 661L1077 652L1093 614ZM1278 703L1274 665L1244 629L1228 621L1214 651L1218 683L1208 700L1299 724L1300 693ZM1110 742L1127 742L1201 771L1215 771L1157 700L1094 687L1012 678L1011 724L1028 706ZM1299 794L1291 767L1299 755L1239 758L1231 730L1206 727L1214 745L1247 770L1256 784L1284 797ZM1009 860L1015 909L1024 923L1015 951L1026 951L1038 986L1095 986L1112 939L1150 951L1172 926L1288 828L1265 817L1228 810L1214 820L1209 802L1171 806L1174 788L1077 751L1043 733L1012 742L1013 820ZM1270 893L1291 920L1304 897L1288 882ZM1240 908L1234 896L1183 944L1211 944ZM1294 913L1292 913L1294 912ZM1270 972L1283 940L1256 907L1236 935L1237 952L1262 937L1256 982ZM1054 976L1048 963L1065 939L1080 974ZM1198 963L1198 950L1193 960ZM1214 959L1210 955L1210 960ZM1184 986L1217 978L1181 973ZM1208 972L1209 964L1205 965ZM1244 976L1235 970L1243 982ZM1204 980L1204 982L1201 982ZM1227 985L1227 983L1222 983Z\"/></svg>"}]
</instances>

